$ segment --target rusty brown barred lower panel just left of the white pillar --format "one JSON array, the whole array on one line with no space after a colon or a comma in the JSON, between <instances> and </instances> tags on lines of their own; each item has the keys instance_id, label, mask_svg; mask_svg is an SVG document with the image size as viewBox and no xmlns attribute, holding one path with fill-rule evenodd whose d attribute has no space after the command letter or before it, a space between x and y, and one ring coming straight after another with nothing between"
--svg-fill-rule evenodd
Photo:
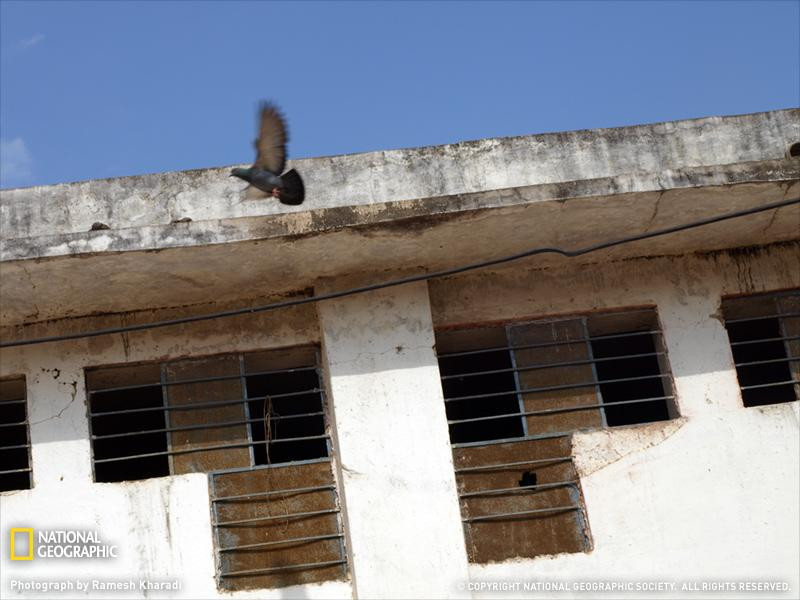
<instances>
[{"instance_id":1,"label":"rusty brown barred lower panel just left of the white pillar","mask_svg":"<svg viewBox=\"0 0 800 600\"><path fill-rule=\"evenodd\" d=\"M221 587L341 579L347 559L330 459L210 477Z\"/></svg>"}]
</instances>

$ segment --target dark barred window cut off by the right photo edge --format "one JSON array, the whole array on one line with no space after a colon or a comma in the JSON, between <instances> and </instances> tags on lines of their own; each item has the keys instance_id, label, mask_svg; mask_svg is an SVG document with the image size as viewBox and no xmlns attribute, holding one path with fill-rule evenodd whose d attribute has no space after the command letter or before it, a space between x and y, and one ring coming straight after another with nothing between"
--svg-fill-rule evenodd
<instances>
[{"instance_id":1,"label":"dark barred window cut off by the right photo edge","mask_svg":"<svg viewBox=\"0 0 800 600\"><path fill-rule=\"evenodd\" d=\"M722 301L745 406L800 398L800 290Z\"/></svg>"}]
</instances>

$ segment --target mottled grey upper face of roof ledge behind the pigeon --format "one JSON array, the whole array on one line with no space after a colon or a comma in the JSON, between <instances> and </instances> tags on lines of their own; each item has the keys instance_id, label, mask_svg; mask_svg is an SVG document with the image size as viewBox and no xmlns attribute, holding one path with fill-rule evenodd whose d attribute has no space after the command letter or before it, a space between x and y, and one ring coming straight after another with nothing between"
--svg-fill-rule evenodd
<instances>
[{"instance_id":1,"label":"mottled grey upper face of roof ledge behind the pigeon","mask_svg":"<svg viewBox=\"0 0 800 600\"><path fill-rule=\"evenodd\" d=\"M243 200L228 168L94 180L0 193L2 238L224 221L404 202L485 190L662 173L786 157L800 141L800 109L752 115L493 138L293 161L306 203ZM303 217L298 215L302 231ZM305 218L306 226L314 222ZM300 233L301 231L296 231ZM201 241L201 240L198 240Z\"/></svg>"}]
</instances>

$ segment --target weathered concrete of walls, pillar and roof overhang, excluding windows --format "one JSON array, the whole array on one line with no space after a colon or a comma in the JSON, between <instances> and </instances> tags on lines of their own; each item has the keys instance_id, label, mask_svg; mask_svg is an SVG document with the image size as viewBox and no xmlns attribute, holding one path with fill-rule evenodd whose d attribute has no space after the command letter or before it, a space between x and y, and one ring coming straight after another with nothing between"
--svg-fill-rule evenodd
<instances>
[{"instance_id":1,"label":"weathered concrete of walls, pillar and roof overhang, excluding windows","mask_svg":"<svg viewBox=\"0 0 800 600\"><path fill-rule=\"evenodd\" d=\"M585 246L796 197L800 162L782 156L799 114L311 159L302 168L315 192L286 214L237 205L220 170L3 192L0 334L266 304L350 285L343 274L384 280ZM182 216L194 221L169 223ZM85 231L103 218L112 229ZM80 572L179 577L174 597L230 597L214 581L203 475L92 482L84 370L323 342L352 581L233 597L446 597L468 580L558 578L773 580L796 596L800 409L742 406L719 307L727 295L800 287L798 224L795 206L583 262L540 257L431 281L427 294L417 284L4 349L0 377L27 380L34 489L0 494L0 530L98 529L124 557L53 568L8 562L3 543L0 595L14 577ZM658 311L680 419L574 436L591 552L466 565L432 329L630 306Z\"/></svg>"}]
</instances>

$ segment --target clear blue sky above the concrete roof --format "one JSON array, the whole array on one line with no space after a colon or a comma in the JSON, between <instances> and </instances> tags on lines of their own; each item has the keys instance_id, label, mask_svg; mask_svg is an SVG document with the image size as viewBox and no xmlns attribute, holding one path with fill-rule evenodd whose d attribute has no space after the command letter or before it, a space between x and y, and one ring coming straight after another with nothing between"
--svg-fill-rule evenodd
<instances>
[{"instance_id":1,"label":"clear blue sky above the concrete roof","mask_svg":"<svg viewBox=\"0 0 800 600\"><path fill-rule=\"evenodd\" d=\"M800 105L800 2L0 2L0 186Z\"/></svg>"}]
</instances>

